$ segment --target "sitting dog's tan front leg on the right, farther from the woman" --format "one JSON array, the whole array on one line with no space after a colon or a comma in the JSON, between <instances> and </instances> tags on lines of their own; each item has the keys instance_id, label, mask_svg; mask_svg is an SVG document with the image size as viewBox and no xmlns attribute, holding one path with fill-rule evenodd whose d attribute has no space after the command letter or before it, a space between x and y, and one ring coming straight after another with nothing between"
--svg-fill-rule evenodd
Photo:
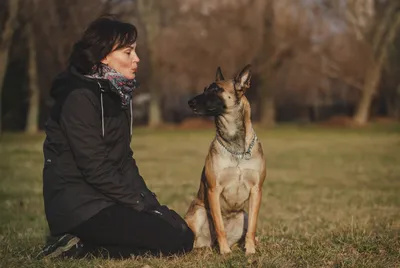
<instances>
[{"instance_id":1,"label":"sitting dog's tan front leg on the right, farther from the woman","mask_svg":"<svg viewBox=\"0 0 400 268\"><path fill-rule=\"evenodd\" d=\"M261 187L258 184L256 184L255 186L252 187L250 191L249 225L245 241L246 255L256 253L255 238L256 238L258 212L260 210L260 204L261 204L261 196L262 196Z\"/></svg>"}]
</instances>

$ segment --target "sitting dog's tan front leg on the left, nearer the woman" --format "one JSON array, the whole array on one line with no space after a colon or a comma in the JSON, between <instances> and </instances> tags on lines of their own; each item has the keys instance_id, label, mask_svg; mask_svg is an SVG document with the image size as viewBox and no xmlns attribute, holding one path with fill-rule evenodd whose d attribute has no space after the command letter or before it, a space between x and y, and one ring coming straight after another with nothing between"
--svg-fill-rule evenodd
<instances>
[{"instance_id":1,"label":"sitting dog's tan front leg on the left, nearer the woman","mask_svg":"<svg viewBox=\"0 0 400 268\"><path fill-rule=\"evenodd\" d=\"M215 233L219 244L219 251L221 254L230 253L228 241L226 239L226 233L224 223L222 220L221 206L219 198L221 195L222 187L215 185L213 188L208 189L208 201L210 205L211 217L213 219Z\"/></svg>"}]
</instances>

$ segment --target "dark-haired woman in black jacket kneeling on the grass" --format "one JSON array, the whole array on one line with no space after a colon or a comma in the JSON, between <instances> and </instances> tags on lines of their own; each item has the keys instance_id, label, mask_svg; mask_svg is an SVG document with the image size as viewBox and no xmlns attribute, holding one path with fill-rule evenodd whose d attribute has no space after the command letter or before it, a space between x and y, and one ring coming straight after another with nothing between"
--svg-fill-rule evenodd
<instances>
[{"instance_id":1,"label":"dark-haired woman in black jacket kneeling on the grass","mask_svg":"<svg viewBox=\"0 0 400 268\"><path fill-rule=\"evenodd\" d=\"M193 233L161 206L139 174L130 148L132 91L139 58L135 26L92 22L53 82L46 123L43 195L56 241L41 256L179 254Z\"/></svg>"}]
</instances>

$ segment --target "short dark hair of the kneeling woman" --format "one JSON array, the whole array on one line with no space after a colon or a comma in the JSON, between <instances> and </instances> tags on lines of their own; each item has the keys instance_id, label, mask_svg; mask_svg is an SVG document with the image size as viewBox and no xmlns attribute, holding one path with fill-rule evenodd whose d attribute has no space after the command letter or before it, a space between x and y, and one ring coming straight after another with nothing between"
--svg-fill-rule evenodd
<instances>
[{"instance_id":1,"label":"short dark hair of the kneeling woman","mask_svg":"<svg viewBox=\"0 0 400 268\"><path fill-rule=\"evenodd\" d=\"M137 38L136 27L117 20L112 15L102 16L89 24L82 38L76 42L69 63L81 74L90 74L109 53L132 45Z\"/></svg>"}]
</instances>

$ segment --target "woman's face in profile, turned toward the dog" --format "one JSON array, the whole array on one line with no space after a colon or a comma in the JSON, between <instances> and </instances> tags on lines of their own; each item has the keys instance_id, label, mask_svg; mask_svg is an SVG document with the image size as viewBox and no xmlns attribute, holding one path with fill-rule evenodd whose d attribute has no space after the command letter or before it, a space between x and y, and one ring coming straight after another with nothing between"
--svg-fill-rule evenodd
<instances>
[{"instance_id":1,"label":"woman's face in profile, turned toward the dog","mask_svg":"<svg viewBox=\"0 0 400 268\"><path fill-rule=\"evenodd\" d=\"M136 54L135 42L129 47L114 50L101 62L115 69L117 72L125 76L125 78L133 79L136 76L139 61L140 59Z\"/></svg>"}]
</instances>

